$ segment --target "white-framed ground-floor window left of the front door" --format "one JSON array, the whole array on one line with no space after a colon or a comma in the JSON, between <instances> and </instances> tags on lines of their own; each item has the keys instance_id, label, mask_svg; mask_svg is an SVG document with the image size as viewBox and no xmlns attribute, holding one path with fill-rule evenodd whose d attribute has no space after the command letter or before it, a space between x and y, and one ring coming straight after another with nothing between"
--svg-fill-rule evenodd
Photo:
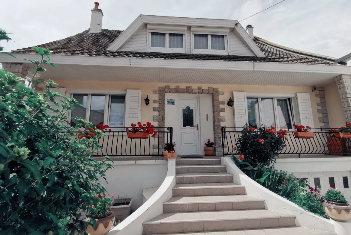
<instances>
[{"instance_id":1,"label":"white-framed ground-floor window left of the front door","mask_svg":"<svg viewBox=\"0 0 351 235\"><path fill-rule=\"evenodd\" d=\"M94 125L124 126L125 95L73 94L72 97L83 107L75 105L71 117L89 120ZM70 123L76 125L73 118Z\"/></svg>"}]
</instances>

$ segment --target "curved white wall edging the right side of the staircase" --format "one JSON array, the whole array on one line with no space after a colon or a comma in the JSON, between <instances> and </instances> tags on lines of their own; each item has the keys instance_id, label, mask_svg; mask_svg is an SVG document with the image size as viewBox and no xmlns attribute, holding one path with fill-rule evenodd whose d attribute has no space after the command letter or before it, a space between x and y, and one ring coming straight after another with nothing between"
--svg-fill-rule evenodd
<instances>
[{"instance_id":1,"label":"curved white wall edging the right side of the staircase","mask_svg":"<svg viewBox=\"0 0 351 235\"><path fill-rule=\"evenodd\" d=\"M233 174L233 182L245 186L246 194L265 200L266 209L295 215L296 225L304 228L335 232L333 222L314 215L298 207L295 203L273 193L245 175L230 157L221 157L221 164L227 166L227 172Z\"/></svg>"}]
</instances>

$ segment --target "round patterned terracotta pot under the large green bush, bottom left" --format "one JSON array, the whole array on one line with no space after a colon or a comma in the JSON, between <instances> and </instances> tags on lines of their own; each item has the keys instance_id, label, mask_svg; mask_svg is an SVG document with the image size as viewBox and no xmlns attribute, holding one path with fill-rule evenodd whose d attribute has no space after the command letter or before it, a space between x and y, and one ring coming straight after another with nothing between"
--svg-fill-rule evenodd
<instances>
[{"instance_id":1,"label":"round patterned terracotta pot under the large green bush, bottom left","mask_svg":"<svg viewBox=\"0 0 351 235\"><path fill-rule=\"evenodd\" d=\"M86 227L87 234L89 234L89 235L104 235L105 233L107 233L111 229L111 227L114 223L114 218L115 218L115 215L113 212L110 212L109 214L107 214L104 217L85 218L83 220L85 222L88 222L91 219L96 220L95 231L94 231L93 227L89 224Z\"/></svg>"}]
</instances>

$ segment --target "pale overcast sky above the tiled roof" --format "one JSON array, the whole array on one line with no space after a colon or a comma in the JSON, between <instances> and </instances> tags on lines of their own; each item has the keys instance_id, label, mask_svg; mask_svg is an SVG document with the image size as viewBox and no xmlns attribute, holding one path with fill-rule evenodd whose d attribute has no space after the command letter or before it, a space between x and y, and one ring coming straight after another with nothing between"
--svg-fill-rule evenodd
<instances>
[{"instance_id":1,"label":"pale overcast sky above the tiled roof","mask_svg":"<svg viewBox=\"0 0 351 235\"><path fill-rule=\"evenodd\" d=\"M98 0L102 28L126 29L140 14L242 20L280 0ZM5 51L59 40L90 26L94 1L1 1L0 28L13 41ZM351 53L351 0L286 0L243 22L255 36L312 53Z\"/></svg>"}]
</instances>

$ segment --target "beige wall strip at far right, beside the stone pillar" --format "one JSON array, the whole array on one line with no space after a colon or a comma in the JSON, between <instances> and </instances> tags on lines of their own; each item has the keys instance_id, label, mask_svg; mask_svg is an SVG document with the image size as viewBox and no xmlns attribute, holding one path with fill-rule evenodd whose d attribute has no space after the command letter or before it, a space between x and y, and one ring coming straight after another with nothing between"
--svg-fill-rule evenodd
<instances>
[{"instance_id":1,"label":"beige wall strip at far right, beside the stone pillar","mask_svg":"<svg viewBox=\"0 0 351 235\"><path fill-rule=\"evenodd\" d=\"M340 100L338 87L335 82L324 86L325 101L327 102L327 110L329 124L331 128L345 126L346 119L343 105Z\"/></svg>"}]
</instances>

